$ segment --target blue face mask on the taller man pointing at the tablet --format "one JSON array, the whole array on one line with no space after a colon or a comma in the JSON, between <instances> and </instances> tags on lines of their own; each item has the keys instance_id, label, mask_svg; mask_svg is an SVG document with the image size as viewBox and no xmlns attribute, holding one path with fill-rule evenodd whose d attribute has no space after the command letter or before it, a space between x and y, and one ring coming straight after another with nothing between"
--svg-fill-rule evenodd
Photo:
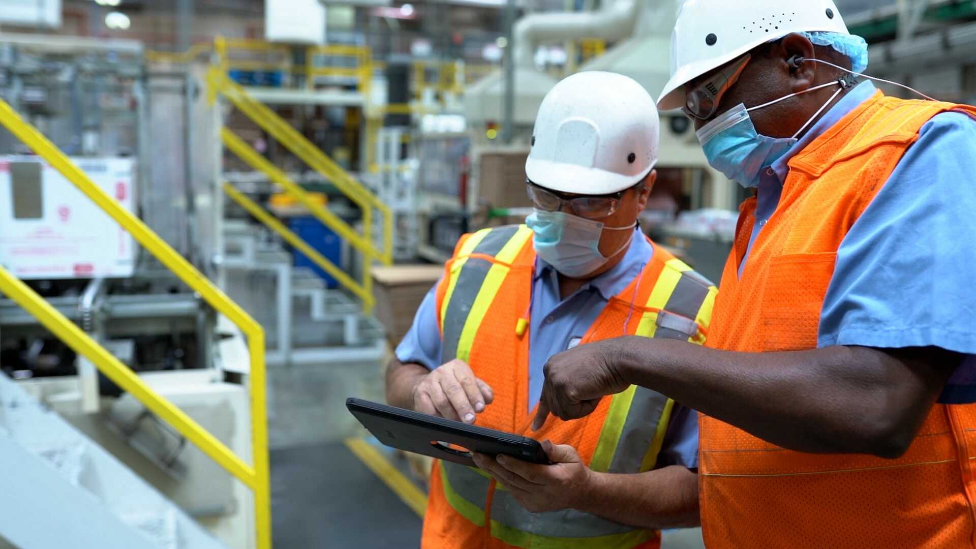
<instances>
[{"instance_id":1,"label":"blue face mask on the taller man pointing at the tablet","mask_svg":"<svg viewBox=\"0 0 976 549\"><path fill-rule=\"evenodd\" d=\"M749 115L750 111L779 103L793 96L837 85L841 88L837 90L834 97L807 120L792 138L771 138L755 131ZM782 158L796 145L797 136L803 133L803 130L823 112L824 108L834 102L834 98L843 91L844 86L840 82L829 82L765 105L752 108L746 108L745 105L734 106L703 126L695 135L702 144L712 168L725 174L725 177L732 181L738 182L739 185L752 189L759 186L759 175L762 170L772 166L773 162Z\"/></svg>"}]
</instances>

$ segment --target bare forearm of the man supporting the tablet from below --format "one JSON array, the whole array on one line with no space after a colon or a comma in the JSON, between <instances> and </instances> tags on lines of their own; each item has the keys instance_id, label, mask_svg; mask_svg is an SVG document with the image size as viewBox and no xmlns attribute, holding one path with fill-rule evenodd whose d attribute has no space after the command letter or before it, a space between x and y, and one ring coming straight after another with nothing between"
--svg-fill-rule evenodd
<instances>
[{"instance_id":1,"label":"bare forearm of the man supporting the tablet from below","mask_svg":"<svg viewBox=\"0 0 976 549\"><path fill-rule=\"evenodd\" d=\"M578 506L637 528L691 528L698 514L698 475L673 465L638 475L593 473L593 486Z\"/></svg>"}]
</instances>

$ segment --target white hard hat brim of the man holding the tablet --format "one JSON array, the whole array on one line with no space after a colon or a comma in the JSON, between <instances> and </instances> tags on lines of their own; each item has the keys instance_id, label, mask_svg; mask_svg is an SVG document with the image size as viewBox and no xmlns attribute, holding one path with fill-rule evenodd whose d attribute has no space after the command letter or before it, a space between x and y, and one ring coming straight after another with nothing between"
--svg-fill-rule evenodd
<instances>
[{"instance_id":1,"label":"white hard hat brim of the man holding the tablet","mask_svg":"<svg viewBox=\"0 0 976 549\"><path fill-rule=\"evenodd\" d=\"M571 194L613 194L628 190L647 177L654 163L638 175L623 175L598 168L587 168L563 162L530 157L525 161L525 175L539 187Z\"/></svg>"}]
</instances>

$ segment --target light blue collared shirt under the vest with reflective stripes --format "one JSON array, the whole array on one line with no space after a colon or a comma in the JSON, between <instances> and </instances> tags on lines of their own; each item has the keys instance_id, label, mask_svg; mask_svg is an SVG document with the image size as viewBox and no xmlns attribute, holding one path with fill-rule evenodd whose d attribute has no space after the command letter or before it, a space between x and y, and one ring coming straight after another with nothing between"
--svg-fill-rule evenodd
<instances>
[{"instance_id":1,"label":"light blue collared shirt under the vest with reflective stripes","mask_svg":"<svg viewBox=\"0 0 976 549\"><path fill-rule=\"evenodd\" d=\"M620 263L566 299L559 297L556 271L545 261L536 260L529 318L529 409L542 395L543 368L549 358L578 344L610 298L627 289L653 256L654 246L636 230ZM430 369L442 362L435 290L436 285L427 292L413 326L396 348L396 358L401 362L417 362ZM693 410L674 404L658 464L698 467L698 414Z\"/></svg>"}]
</instances>

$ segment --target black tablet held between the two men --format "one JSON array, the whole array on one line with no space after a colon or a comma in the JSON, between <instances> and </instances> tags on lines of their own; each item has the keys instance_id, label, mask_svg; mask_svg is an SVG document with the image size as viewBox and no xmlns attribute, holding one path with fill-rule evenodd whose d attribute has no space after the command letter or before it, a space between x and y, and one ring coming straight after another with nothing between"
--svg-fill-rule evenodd
<instances>
[{"instance_id":1,"label":"black tablet held between the two men","mask_svg":"<svg viewBox=\"0 0 976 549\"><path fill-rule=\"evenodd\" d=\"M542 444L533 439L359 399L346 399L346 408L381 443L394 448L470 467L475 467L472 451L549 464L549 456ZM469 451L457 450L448 444Z\"/></svg>"}]
</instances>

